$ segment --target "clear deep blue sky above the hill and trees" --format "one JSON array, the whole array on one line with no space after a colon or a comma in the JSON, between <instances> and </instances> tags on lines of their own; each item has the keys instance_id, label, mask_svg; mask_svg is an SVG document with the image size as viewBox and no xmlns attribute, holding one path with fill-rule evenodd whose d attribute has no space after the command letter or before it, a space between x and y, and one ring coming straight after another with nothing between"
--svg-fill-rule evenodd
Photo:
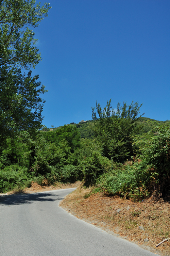
<instances>
[{"instance_id":1,"label":"clear deep blue sky above the hill and trees","mask_svg":"<svg viewBox=\"0 0 170 256\"><path fill-rule=\"evenodd\" d=\"M42 2L44 3L44 2ZM170 1L52 0L35 29L43 60L33 74L49 90L43 124L91 119L102 107L143 102L145 117L170 119Z\"/></svg>"}]
</instances>

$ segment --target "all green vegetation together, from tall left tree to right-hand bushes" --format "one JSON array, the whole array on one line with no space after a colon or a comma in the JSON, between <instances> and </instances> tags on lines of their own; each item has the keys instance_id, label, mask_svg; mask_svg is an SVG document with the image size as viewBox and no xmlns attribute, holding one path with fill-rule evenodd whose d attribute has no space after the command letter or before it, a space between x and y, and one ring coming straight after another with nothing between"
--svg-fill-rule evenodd
<instances>
[{"instance_id":1,"label":"all green vegetation together, from tall left tree to right-hand bushes","mask_svg":"<svg viewBox=\"0 0 170 256\"><path fill-rule=\"evenodd\" d=\"M82 180L96 185L94 193L169 198L170 122L142 117L138 102L118 103L115 112L109 100L103 111L96 102L92 120L43 128L46 90L31 77L40 54L30 27L49 4L3 0L0 7L0 192Z\"/></svg>"}]
</instances>

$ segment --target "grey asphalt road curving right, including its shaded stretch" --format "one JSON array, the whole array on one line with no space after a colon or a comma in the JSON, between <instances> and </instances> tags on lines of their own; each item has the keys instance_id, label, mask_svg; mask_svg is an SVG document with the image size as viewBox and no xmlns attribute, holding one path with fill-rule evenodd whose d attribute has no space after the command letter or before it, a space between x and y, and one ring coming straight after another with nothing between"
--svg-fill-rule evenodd
<instances>
[{"instance_id":1,"label":"grey asphalt road curving right, including its shaded stretch","mask_svg":"<svg viewBox=\"0 0 170 256\"><path fill-rule=\"evenodd\" d=\"M58 206L74 189L0 196L0 256L153 256Z\"/></svg>"}]
</instances>

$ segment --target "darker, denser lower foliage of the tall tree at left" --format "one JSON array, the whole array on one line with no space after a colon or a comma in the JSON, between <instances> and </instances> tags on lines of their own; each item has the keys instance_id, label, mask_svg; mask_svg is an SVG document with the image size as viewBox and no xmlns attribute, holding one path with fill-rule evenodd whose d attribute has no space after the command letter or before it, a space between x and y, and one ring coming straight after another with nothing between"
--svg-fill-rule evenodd
<instances>
[{"instance_id":1,"label":"darker, denser lower foliage of the tall tree at left","mask_svg":"<svg viewBox=\"0 0 170 256\"><path fill-rule=\"evenodd\" d=\"M30 133L41 128L45 86L37 82L38 75L21 74L20 69L0 69L0 141L15 137L20 130Z\"/></svg>"}]
</instances>

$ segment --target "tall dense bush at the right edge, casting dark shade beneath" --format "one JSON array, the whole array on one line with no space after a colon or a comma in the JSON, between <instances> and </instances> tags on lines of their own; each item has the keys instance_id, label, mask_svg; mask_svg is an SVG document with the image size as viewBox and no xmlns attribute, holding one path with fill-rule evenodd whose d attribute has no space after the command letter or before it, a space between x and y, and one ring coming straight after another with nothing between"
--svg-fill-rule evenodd
<instances>
[{"instance_id":1,"label":"tall dense bush at the right edge, casting dark shade beneath","mask_svg":"<svg viewBox=\"0 0 170 256\"><path fill-rule=\"evenodd\" d=\"M169 124L152 130L152 137L148 140L137 142L142 144L142 162L148 166L148 170L155 176L152 182L152 190L157 196L170 195L170 127Z\"/></svg>"}]
</instances>

